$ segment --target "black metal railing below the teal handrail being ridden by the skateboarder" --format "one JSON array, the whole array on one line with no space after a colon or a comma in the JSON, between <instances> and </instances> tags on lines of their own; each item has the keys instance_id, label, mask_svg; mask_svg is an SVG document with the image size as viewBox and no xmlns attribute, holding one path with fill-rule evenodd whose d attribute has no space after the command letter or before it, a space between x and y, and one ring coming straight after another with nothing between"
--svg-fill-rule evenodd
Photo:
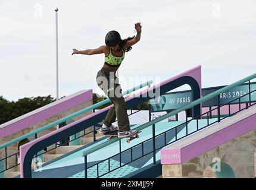
<instances>
[{"instance_id":1,"label":"black metal railing below the teal handrail being ridden by the skateboarder","mask_svg":"<svg viewBox=\"0 0 256 190\"><path fill-rule=\"evenodd\" d=\"M252 101L251 101L251 94L252 93L255 93L256 90L254 91L251 91L251 89L249 89L249 93L247 94L244 94L243 96L241 97L238 97L234 100L231 100L230 102L228 103L224 103L223 105L220 105L220 97L218 95L218 106L215 108L215 109L211 109L209 110L208 112L205 112L205 113L202 113L201 115L199 116L196 116L195 118L192 118L188 121L188 118L186 117L186 122L184 122L183 124L180 124L180 125L177 125L175 126L174 128L171 128L171 129L168 129L167 131L164 131L162 132L161 134L158 134L158 135L155 135L155 124L152 125L152 137L149 138L148 140L145 140L143 141L142 143L139 143L139 144L136 144L134 145L133 147L130 147L130 148L127 148L126 150L123 150L121 151L121 140L118 140L119 141L119 153L117 154L114 154L114 156L111 156L111 157L108 157L107 159L104 159L104 160L101 160L100 162L96 163L96 164L93 164L92 166L89 166L88 167L88 158L87 158L87 155L85 155L85 178L88 178L88 170L89 169L92 169L93 167L96 166L96 178L101 178L102 176L105 176L107 175L108 173L110 172L113 172L114 170L117 170L119 169L120 167L123 167L123 166L126 166L127 164L129 163L132 163L132 162L135 162L136 160L139 160L139 159L142 159L143 157L145 156L148 156L149 154L153 154L152 157L153 157L153 163L156 164L157 163L157 160L156 160L156 153L158 150L160 150L161 148L165 147L166 145L169 145L171 143L174 143L178 140L181 140L182 138L185 138L185 137L188 137L189 135L191 134L194 134L195 132L198 132L200 131L201 129L204 129L206 128L207 126L210 126L210 125L213 125L213 124L216 124L217 122L220 122L222 121L223 119L226 119L226 118L229 118L230 116L233 116L235 115L236 113L238 112L241 112L242 110L245 110L245 109L248 109L248 107L252 106L252 105L255 105L255 103L252 104ZM246 106L242 109L241 108L241 99L245 96L249 96L249 102L246 102ZM239 110L237 112L233 112L231 113L230 111L230 105L233 105L232 102L235 102L236 100L238 100L238 105L239 105ZM249 105L248 105L249 103ZM229 114L228 116L224 116L224 117L221 117L221 107L222 106L226 106L228 105L229 106ZM217 110L217 119L216 121L214 122L211 122L210 123L210 117L211 117L211 112L213 112L214 110ZM207 125L205 126L202 126L199 128L199 120L202 118L202 116L204 115L207 115ZM188 124L189 122L193 121L193 120L196 120L196 130L193 131L193 132L189 132L189 127L188 127ZM183 137L178 137L178 134L179 132L184 128L182 128L181 130L179 130L180 126L184 126L185 127L185 130L186 130L186 135L184 135ZM168 133L171 133L173 131L174 133L174 137L172 136L172 138L170 138L170 141L167 141L167 134ZM160 138L160 137L164 137L164 143L163 145L161 145L160 147L156 147L156 140L157 138ZM160 138L160 140L163 139L163 138ZM152 141L152 150L149 151L148 153L144 153L145 151L145 147L144 147L144 144L148 141ZM136 159L133 159L133 149L135 147L141 147L141 153L142 153L142 156L136 158ZM127 162L127 163L123 163L121 162L121 155L124 154L126 151L130 151L130 162ZM111 166L110 166L110 160L113 158L113 157L119 157L119 166L118 167L115 167L113 170L111 170ZM104 163L104 162L107 162L108 163L108 172L106 173L103 173L102 175L99 175L99 165Z\"/></svg>"}]
</instances>

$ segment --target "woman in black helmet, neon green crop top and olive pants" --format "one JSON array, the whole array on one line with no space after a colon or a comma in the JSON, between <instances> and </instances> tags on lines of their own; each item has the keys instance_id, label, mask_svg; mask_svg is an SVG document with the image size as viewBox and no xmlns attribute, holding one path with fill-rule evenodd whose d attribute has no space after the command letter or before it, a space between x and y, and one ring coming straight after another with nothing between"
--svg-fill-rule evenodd
<instances>
[{"instance_id":1,"label":"woman in black helmet, neon green crop top and olive pants","mask_svg":"<svg viewBox=\"0 0 256 190\"><path fill-rule=\"evenodd\" d=\"M135 24L137 31L136 36L128 37L122 40L120 34L117 31L110 31L105 36L105 46L100 46L97 49L77 50L73 49L74 54L94 55L105 54L105 62L103 67L98 71L96 81L113 103L113 107L108 110L107 116L102 121L102 126L99 131L102 134L107 132L118 130L118 137L130 137L136 134L136 130L130 129L130 122L127 115L126 103L124 97L121 94L121 86L118 84L118 77L115 76L117 69L121 65L124 59L124 54L132 49L135 43L141 39L141 23ZM117 117L117 126L112 125Z\"/></svg>"}]
</instances>

